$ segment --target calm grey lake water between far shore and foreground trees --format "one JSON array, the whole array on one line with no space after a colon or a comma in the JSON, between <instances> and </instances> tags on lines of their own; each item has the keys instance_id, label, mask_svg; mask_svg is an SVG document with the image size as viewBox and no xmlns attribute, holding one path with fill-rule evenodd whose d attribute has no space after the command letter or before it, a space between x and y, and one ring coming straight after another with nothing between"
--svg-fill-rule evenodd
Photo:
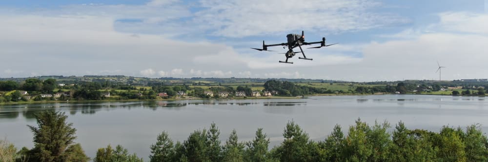
<instances>
[{"instance_id":1,"label":"calm grey lake water between far shore and foreground trees","mask_svg":"<svg viewBox=\"0 0 488 162\"><path fill-rule=\"evenodd\" d=\"M485 97L430 95L316 96L307 99L192 100L143 102L82 102L0 106L0 137L18 148L31 148L36 125L34 114L56 109L69 116L78 129L75 141L86 154L108 144L122 144L129 152L148 160L149 145L166 130L176 141L215 122L224 142L233 128L240 140L249 141L257 128L279 144L287 121L297 122L314 140L324 140L335 124L347 128L359 117L373 124L387 120L394 127L404 121L408 128L438 131L441 126L483 125L488 132L488 101Z\"/></svg>"}]
</instances>

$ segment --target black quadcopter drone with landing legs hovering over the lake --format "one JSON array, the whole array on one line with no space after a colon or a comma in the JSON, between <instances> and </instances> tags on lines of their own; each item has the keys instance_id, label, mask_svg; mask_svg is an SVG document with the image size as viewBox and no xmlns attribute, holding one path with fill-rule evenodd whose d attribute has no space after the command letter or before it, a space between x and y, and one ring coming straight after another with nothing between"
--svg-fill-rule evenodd
<instances>
[{"instance_id":1,"label":"black quadcopter drone with landing legs hovering over the lake","mask_svg":"<svg viewBox=\"0 0 488 162\"><path fill-rule=\"evenodd\" d=\"M291 57L295 56L295 54L298 54L298 53L302 53L304 55L304 57L298 57L299 59L313 60L312 58L307 58L305 56L304 50L302 49L302 45L320 44L320 46L310 47L310 48L322 48L322 47L327 47L327 46L332 46L334 44L337 44L337 43L334 43L334 44L325 45L325 37L322 37L322 41L318 41L318 42L305 42L304 31L302 31L302 35L301 36L298 35L298 34L289 34L289 35L286 35L286 38L288 38L288 42L287 43L268 44L268 45L266 45L266 44L264 44L264 40L263 40L263 49L259 49L259 48L251 48L251 49L255 49L255 50L258 50L258 51L270 51L270 50L268 50L268 47L271 47L271 46L283 46L284 49L286 47L288 47L288 52L282 53L282 54L285 54L286 60L285 61L279 61L279 62L280 63L293 64L293 62L288 62L288 58L291 58ZM300 52L294 52L293 49L295 47L299 47L300 48Z\"/></svg>"}]
</instances>

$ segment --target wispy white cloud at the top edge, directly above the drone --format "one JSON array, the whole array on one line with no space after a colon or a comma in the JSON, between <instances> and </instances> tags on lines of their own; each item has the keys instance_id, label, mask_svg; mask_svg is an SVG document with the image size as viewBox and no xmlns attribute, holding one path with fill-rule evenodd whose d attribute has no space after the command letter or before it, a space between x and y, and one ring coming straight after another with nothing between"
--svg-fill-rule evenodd
<instances>
[{"instance_id":1,"label":"wispy white cloud at the top edge, directly above the drone","mask_svg":"<svg viewBox=\"0 0 488 162\"><path fill-rule=\"evenodd\" d=\"M380 6L366 0L201 0L207 8L196 14L196 23L219 36L259 36L296 30L326 33L360 31L404 24L406 18L372 13Z\"/></svg>"}]
</instances>

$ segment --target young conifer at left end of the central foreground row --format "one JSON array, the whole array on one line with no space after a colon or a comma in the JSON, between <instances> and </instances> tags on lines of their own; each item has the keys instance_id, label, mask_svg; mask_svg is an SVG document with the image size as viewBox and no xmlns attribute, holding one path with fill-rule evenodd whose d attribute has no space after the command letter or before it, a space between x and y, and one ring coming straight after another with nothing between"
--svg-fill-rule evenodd
<instances>
[{"instance_id":1,"label":"young conifer at left end of the central foreground row","mask_svg":"<svg viewBox=\"0 0 488 162\"><path fill-rule=\"evenodd\" d=\"M151 162L171 162L172 155L174 154L174 146L171 138L168 137L168 133L163 131L158 135L156 144L151 144L151 153L149 159Z\"/></svg>"}]
</instances>

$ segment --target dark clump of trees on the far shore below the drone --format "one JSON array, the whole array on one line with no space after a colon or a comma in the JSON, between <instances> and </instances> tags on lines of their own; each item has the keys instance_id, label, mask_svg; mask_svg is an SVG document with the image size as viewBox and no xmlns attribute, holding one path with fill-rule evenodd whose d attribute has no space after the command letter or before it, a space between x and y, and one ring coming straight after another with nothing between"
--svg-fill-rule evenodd
<instances>
[{"instance_id":1,"label":"dark clump of trees on the far shore below the drone","mask_svg":"<svg viewBox=\"0 0 488 162\"><path fill-rule=\"evenodd\" d=\"M279 95L308 95L308 94L326 94L335 93L333 90L327 90L325 88L314 88L309 86L296 85L293 82L288 81L278 81L278 80L268 80L264 83L264 90L266 91L276 91Z\"/></svg>"}]
</instances>

